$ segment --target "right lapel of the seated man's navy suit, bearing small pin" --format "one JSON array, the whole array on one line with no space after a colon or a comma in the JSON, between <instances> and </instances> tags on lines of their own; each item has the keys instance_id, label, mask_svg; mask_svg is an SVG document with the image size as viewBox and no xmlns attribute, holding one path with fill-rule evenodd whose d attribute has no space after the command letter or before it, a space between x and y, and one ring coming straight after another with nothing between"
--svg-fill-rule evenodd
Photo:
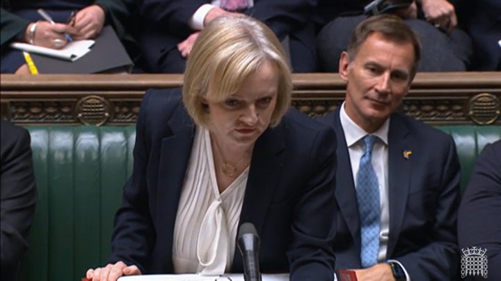
<instances>
[{"instance_id":1,"label":"right lapel of the seated man's navy suit, bearing small pin","mask_svg":"<svg viewBox=\"0 0 501 281\"><path fill-rule=\"evenodd\" d=\"M404 151L413 151L415 140L398 114L390 119L388 131L388 203L390 205L390 236L386 256L392 256L399 238L402 220L411 184L412 160L415 156L404 157Z\"/></svg>"}]
</instances>

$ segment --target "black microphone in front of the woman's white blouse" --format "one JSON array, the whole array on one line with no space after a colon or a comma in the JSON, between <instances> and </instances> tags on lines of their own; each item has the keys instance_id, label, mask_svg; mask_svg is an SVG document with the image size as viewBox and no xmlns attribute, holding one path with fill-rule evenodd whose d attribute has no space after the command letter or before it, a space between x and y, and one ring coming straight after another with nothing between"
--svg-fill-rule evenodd
<instances>
[{"instance_id":1,"label":"black microphone in front of the woman's white blouse","mask_svg":"<svg viewBox=\"0 0 501 281\"><path fill-rule=\"evenodd\" d=\"M240 225L237 244L244 259L244 280L261 281L258 258L260 238L252 223Z\"/></svg>"}]
</instances>

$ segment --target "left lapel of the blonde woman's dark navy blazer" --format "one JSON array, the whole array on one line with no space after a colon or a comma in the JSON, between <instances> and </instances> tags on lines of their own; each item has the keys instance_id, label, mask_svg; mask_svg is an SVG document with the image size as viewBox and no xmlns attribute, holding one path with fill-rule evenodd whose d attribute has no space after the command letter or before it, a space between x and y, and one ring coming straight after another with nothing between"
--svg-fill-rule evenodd
<instances>
[{"instance_id":1,"label":"left lapel of the blonde woman's dark navy blazer","mask_svg":"<svg viewBox=\"0 0 501 281\"><path fill-rule=\"evenodd\" d=\"M164 260L168 262L168 268L172 269L175 218L195 137L195 126L181 104L169 119L168 126L172 135L162 139L157 187L157 195L165 204L158 205L157 213L165 223L163 228L168 230L161 239L166 239L168 249L164 253Z\"/></svg>"}]
</instances>

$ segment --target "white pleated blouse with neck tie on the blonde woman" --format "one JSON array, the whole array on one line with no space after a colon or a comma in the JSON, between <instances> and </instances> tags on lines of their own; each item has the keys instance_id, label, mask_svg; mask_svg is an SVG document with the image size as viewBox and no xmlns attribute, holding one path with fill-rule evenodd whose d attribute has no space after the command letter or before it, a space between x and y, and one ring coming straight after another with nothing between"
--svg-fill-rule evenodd
<instances>
[{"instance_id":1,"label":"white pleated blouse with neck tie on the blonde woman","mask_svg":"<svg viewBox=\"0 0 501 281\"><path fill-rule=\"evenodd\" d=\"M249 168L219 194L213 159L209 131L198 128L175 220L175 273L222 275L232 265Z\"/></svg>"}]
</instances>

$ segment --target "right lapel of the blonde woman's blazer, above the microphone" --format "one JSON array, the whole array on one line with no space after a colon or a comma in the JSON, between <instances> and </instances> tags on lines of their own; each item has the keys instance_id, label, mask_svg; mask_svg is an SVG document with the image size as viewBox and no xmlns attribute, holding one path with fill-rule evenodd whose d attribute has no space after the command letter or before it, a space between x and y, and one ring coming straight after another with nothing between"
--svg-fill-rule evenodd
<instances>
[{"instance_id":1,"label":"right lapel of the blonde woman's blazer, above the microphone","mask_svg":"<svg viewBox=\"0 0 501 281\"><path fill-rule=\"evenodd\" d=\"M254 146L239 225L253 223L257 233L262 233L273 191L280 186L283 176L285 133L282 126L266 130ZM235 248L232 271L241 268L242 259Z\"/></svg>"}]
</instances>

